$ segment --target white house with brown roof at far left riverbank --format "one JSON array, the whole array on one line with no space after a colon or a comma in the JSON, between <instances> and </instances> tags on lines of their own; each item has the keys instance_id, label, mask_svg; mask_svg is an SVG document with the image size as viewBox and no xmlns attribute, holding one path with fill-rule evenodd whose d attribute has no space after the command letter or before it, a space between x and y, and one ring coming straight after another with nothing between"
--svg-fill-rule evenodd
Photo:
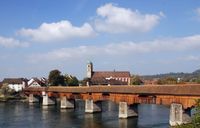
<instances>
[{"instance_id":1,"label":"white house with brown roof at far left riverbank","mask_svg":"<svg viewBox=\"0 0 200 128\"><path fill-rule=\"evenodd\" d=\"M27 81L25 78L5 78L2 83L8 84L9 88L19 92L27 86Z\"/></svg>"}]
</instances>

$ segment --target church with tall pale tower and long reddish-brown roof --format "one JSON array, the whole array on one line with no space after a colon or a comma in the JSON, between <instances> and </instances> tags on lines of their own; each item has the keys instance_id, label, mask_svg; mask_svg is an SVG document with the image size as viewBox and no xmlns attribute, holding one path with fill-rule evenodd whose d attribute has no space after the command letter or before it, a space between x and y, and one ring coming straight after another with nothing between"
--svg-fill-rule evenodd
<instances>
[{"instance_id":1,"label":"church with tall pale tower and long reddish-brown roof","mask_svg":"<svg viewBox=\"0 0 200 128\"><path fill-rule=\"evenodd\" d=\"M92 62L87 64L87 78L90 85L130 85L129 71L93 71Z\"/></svg>"}]
</instances>

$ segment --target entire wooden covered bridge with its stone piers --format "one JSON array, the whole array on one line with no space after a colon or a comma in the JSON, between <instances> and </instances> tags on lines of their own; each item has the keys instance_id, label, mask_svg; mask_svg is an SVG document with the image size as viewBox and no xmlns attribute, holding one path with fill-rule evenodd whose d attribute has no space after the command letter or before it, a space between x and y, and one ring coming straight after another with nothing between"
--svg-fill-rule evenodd
<instances>
[{"instance_id":1,"label":"entire wooden covered bridge with its stone piers","mask_svg":"<svg viewBox=\"0 0 200 128\"><path fill-rule=\"evenodd\" d=\"M74 108L75 99L85 100L85 112L101 111L98 101L111 100L119 104L119 118L136 116L131 108L136 104L169 105L170 125L190 121L186 110L195 107L200 99L200 85L145 85L145 86L85 86L85 87L39 87L26 88L29 102L43 98L43 105L54 104L52 99L60 98L61 108Z\"/></svg>"}]
</instances>

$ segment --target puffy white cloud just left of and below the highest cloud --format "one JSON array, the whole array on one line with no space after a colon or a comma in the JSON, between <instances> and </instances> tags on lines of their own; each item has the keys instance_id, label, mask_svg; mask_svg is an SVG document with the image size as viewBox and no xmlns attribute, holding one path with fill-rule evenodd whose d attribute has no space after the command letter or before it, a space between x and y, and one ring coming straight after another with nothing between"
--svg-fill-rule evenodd
<instances>
[{"instance_id":1,"label":"puffy white cloud just left of and below the highest cloud","mask_svg":"<svg viewBox=\"0 0 200 128\"><path fill-rule=\"evenodd\" d=\"M67 20L56 23L43 23L37 29L23 28L18 33L38 42L53 42L72 38L88 38L95 35L90 24L84 23L81 27L76 27Z\"/></svg>"}]
</instances>

